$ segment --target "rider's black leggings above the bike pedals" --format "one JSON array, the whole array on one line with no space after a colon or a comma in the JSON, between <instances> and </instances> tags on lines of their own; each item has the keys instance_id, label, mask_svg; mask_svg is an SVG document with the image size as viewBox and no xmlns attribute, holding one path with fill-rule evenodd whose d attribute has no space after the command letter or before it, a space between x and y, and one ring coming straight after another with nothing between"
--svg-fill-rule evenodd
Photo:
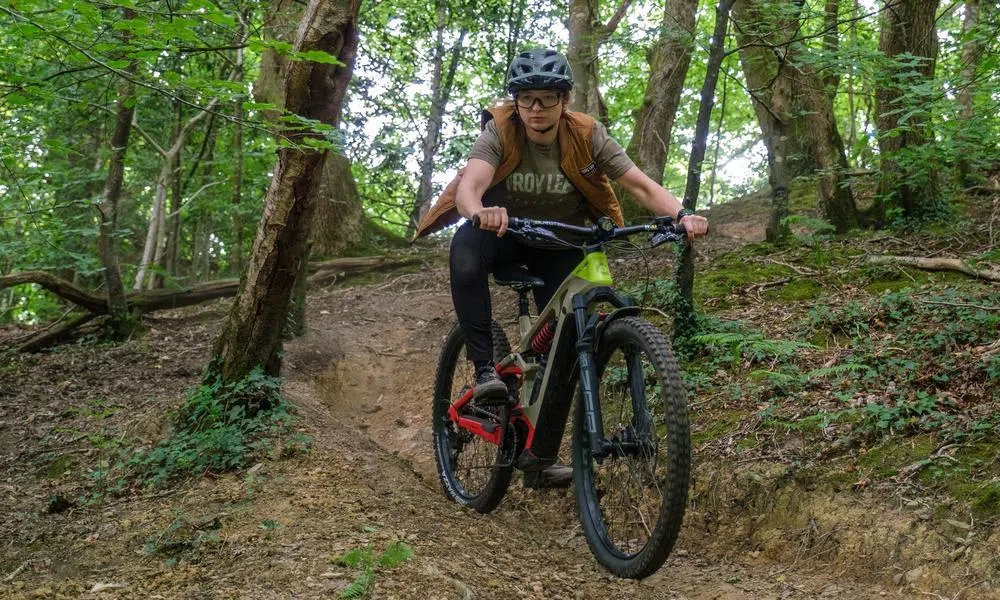
<instances>
[{"instance_id":1,"label":"rider's black leggings above the bike pedals","mask_svg":"<svg viewBox=\"0 0 1000 600\"><path fill-rule=\"evenodd\" d=\"M459 227L451 239L451 299L465 333L469 360L477 366L493 364L489 274L494 269L521 264L545 281L545 287L534 289L535 307L540 311L581 260L580 250L541 250L512 235L498 238L495 231L477 229L471 223Z\"/></svg>"}]
</instances>

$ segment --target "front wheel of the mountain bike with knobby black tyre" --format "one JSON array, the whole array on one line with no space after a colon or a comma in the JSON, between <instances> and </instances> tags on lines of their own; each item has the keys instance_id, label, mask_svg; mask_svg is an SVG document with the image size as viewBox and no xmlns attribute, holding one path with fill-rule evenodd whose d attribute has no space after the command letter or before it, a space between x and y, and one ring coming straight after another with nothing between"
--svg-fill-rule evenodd
<instances>
[{"instance_id":1,"label":"front wheel of the mountain bike with knobby black tyre","mask_svg":"<svg viewBox=\"0 0 1000 600\"><path fill-rule=\"evenodd\" d=\"M656 572L684 519L691 432L680 369L649 322L608 324L595 352L605 456L590 450L582 394L573 426L573 485L597 560L618 577ZM581 374L581 377L583 374Z\"/></svg>"}]
</instances>

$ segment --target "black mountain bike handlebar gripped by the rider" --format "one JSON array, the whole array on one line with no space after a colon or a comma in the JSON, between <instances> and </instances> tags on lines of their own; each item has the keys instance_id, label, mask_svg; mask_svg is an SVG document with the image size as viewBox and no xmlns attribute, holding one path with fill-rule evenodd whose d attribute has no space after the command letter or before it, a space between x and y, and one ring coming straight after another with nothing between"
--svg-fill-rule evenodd
<instances>
[{"instance_id":1,"label":"black mountain bike handlebar gripped by the rider","mask_svg":"<svg viewBox=\"0 0 1000 600\"><path fill-rule=\"evenodd\" d=\"M479 216L472 217L472 226L479 228ZM560 221L541 221L510 217L507 221L507 231L536 241L552 241L568 246L580 246L561 239L555 231L584 236L584 245L603 244L616 239L627 238L636 233L652 233L649 238L650 247L656 247L666 242L679 242L687 239L687 230L680 223L674 223L671 217L654 217L649 223L618 227L611 219L602 217L597 225L571 225Z\"/></svg>"}]
</instances>

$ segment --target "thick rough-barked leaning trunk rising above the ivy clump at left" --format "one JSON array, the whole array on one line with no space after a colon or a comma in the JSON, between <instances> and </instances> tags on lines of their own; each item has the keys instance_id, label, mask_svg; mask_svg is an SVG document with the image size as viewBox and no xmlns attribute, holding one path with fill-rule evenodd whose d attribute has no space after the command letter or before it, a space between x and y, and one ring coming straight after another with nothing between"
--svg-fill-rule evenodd
<instances>
[{"instance_id":1,"label":"thick rough-barked leaning trunk rising above the ivy clump at left","mask_svg":"<svg viewBox=\"0 0 1000 600\"><path fill-rule=\"evenodd\" d=\"M352 65L357 47L360 0L310 0L296 36L296 52L322 50ZM334 124L348 76L336 66L310 61L289 63L283 97L286 111ZM295 141L305 134L284 132ZM281 331L299 261L309 237L320 169L327 151L302 145L282 148L265 199L253 254L240 291L215 343L212 369L223 382L245 378L260 366L271 375L281 367Z\"/></svg>"}]
</instances>

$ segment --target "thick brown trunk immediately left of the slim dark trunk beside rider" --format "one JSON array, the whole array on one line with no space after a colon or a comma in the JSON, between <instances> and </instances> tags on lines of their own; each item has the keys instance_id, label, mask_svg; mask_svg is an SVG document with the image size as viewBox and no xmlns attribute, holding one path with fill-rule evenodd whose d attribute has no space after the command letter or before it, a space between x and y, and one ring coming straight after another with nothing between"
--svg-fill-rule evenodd
<instances>
[{"instance_id":1,"label":"thick brown trunk immediately left of the slim dark trunk beside rider","mask_svg":"<svg viewBox=\"0 0 1000 600\"><path fill-rule=\"evenodd\" d=\"M662 34L648 53L649 82L627 148L636 166L657 183L663 183L670 136L684 90L684 78L691 64L694 47L691 32L694 31L698 0L667 0L664 4ZM643 214L631 194L621 196L626 220Z\"/></svg>"}]
</instances>

